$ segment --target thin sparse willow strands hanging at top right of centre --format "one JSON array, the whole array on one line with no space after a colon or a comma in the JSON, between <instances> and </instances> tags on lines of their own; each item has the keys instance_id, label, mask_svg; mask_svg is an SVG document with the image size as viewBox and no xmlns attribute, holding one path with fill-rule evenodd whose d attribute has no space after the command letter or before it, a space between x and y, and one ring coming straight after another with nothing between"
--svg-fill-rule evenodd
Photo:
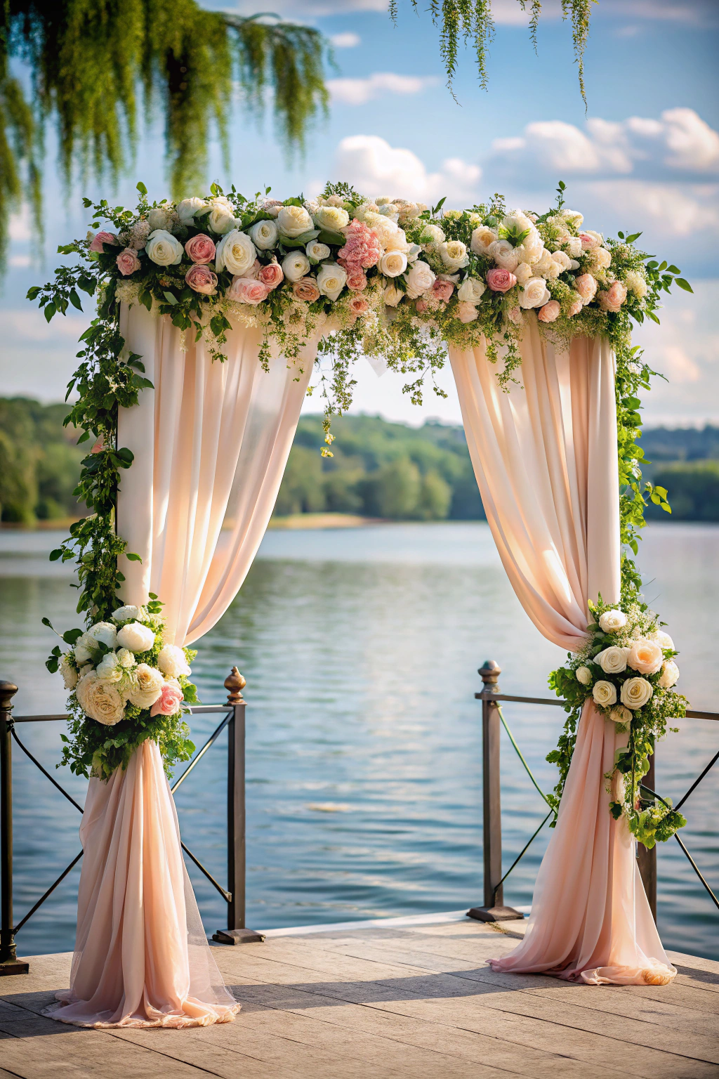
<instances>
[{"instance_id":1,"label":"thin sparse willow strands hanging at top right of centre","mask_svg":"<svg viewBox=\"0 0 719 1079\"><path fill-rule=\"evenodd\" d=\"M516 0L522 11L529 4L529 33L537 49L537 29L542 11L542 0ZM579 67L579 88L586 106L584 90L584 50L590 33L590 13L593 3L598 0L562 0L562 17L571 19L571 37L575 46L575 59ZM418 11L419 0L411 0L412 6ZM389 14L396 22L399 0L389 0ZM428 0L427 10L432 22L440 27L440 55L447 73L447 86L452 90L454 77L457 73L457 59L460 42L471 44L476 58L480 85L486 90L488 85L487 56L492 39L495 36L495 23L492 17L492 0Z\"/></svg>"}]
</instances>

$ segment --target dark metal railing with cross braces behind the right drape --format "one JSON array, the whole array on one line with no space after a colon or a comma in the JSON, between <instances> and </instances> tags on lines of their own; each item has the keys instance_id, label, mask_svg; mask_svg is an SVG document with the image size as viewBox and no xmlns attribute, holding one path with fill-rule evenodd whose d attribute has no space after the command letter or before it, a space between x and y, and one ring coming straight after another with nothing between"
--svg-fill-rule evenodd
<instances>
[{"instance_id":1,"label":"dark metal railing with cross braces behind the right drape","mask_svg":"<svg viewBox=\"0 0 719 1079\"><path fill-rule=\"evenodd\" d=\"M516 697L511 694L499 692L499 675L501 674L501 668L494 659L488 659L480 667L479 674L484 683L482 692L475 693L474 697L476 700L482 701L482 798L483 798L483 830L482 830L482 843L483 843L483 853L484 853L484 902L482 906L473 906L467 913L470 917L476 918L480 921L506 921L512 918L524 917L518 911L515 911L511 906L504 906L504 880L510 875L514 866L524 857L526 851L529 849L534 839L539 835L544 824L553 816L553 810L550 808L549 814L544 817L544 820L539 825L534 835L529 838L528 843L524 846L520 855L514 859L509 870L502 874L502 835L501 835L501 795L500 795L500 778L499 778L499 755L500 755L500 732L503 725L509 734L514 749L516 750L524 767L526 768L529 777L539 791L542 794L540 788L537 784L529 766L522 756L522 753L514 741L509 727L504 723L503 716L501 714L500 701L508 700L520 705L550 705L554 708L564 708L564 701L558 698L553 697ZM688 711L688 719L693 720L714 720L719 721L719 712L696 712ZM642 789L647 794L654 795L654 753L650 760L649 771L646 776L646 783L642 783ZM717 752L706 767L700 773L694 782L691 784L689 790L677 802L676 806L673 808L679 809L685 804L687 798L692 794L705 776L711 770L714 765L719 761L719 752ZM659 797L659 795L655 795ZM544 795L542 794L542 797ZM660 798L660 801L662 801ZM665 803L666 804L666 803ZM668 808L668 806L667 806ZM704 879L699 866L696 865L691 853L685 846L681 837L678 833L675 834L675 839L681 847L681 850L688 858L692 869L696 873L696 876L702 882L702 885L706 889L710 899L719 910L719 899L715 896L711 888ZM641 874L641 879L644 880L645 889L647 892L647 898L649 900L649 905L651 906L651 912L656 920L656 847L652 847L648 850L642 844L637 844L637 862L639 865L639 872Z\"/></svg>"}]
</instances>

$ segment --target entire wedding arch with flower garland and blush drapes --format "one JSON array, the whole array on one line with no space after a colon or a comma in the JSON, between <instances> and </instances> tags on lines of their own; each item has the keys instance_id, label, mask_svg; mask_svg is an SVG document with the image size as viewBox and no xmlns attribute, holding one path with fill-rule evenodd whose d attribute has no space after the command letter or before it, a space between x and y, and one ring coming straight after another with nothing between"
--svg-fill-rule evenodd
<instances>
[{"instance_id":1,"label":"entire wedding arch with flower garland and blush drapes","mask_svg":"<svg viewBox=\"0 0 719 1079\"><path fill-rule=\"evenodd\" d=\"M239 1008L207 948L163 766L190 755L190 645L251 565L318 357L331 455L358 357L383 356L420 401L448 351L502 563L568 651L550 677L568 712L550 754L556 827L527 937L493 965L590 983L676 973L634 858L635 839L685 823L640 783L687 701L633 560L646 500L668 506L642 487L638 394L654 372L631 328L690 286L639 233L585 229L564 191L541 214L499 195L466 210L371 201L345 183L309 201L213 185L151 204L142 183L135 209L85 200L93 231L59 248L77 260L28 293L49 322L81 292L97 303L67 420L95 438L78 489L91 516L51 555L78 566L85 627L47 666L70 692L64 760L91 778L55 1019L186 1026Z\"/></svg>"}]
</instances>

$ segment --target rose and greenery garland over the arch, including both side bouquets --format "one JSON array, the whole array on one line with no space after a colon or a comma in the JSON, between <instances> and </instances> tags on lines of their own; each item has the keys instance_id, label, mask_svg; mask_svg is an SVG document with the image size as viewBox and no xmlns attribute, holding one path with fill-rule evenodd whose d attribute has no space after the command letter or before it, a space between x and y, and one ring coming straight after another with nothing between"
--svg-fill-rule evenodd
<instances>
[{"instance_id":1,"label":"rose and greenery garland over the arch, including both side bouquets","mask_svg":"<svg viewBox=\"0 0 719 1079\"><path fill-rule=\"evenodd\" d=\"M358 357L383 356L409 375L404 390L420 404L447 344L470 349L485 340L497 379L511 392L523 326L536 317L554 344L606 337L616 355L624 544L621 609L597 597L585 647L550 675L569 713L548 756L559 769L552 802L556 809L579 715L593 697L609 721L630 732L614 766L624 783L620 801L610 804L612 814L624 815L648 846L669 838L683 817L667 803L642 800L639 784L654 739L670 719L683 715L688 702L673 688L679 675L674 643L641 599L632 558L647 498L669 507L663 488L642 486L638 394L655 372L632 345L631 330L633 322L659 322L661 295L674 284L691 291L679 270L636 248L640 233L605 240L584 229L582 215L564 205L562 182L556 206L542 214L508 211L498 194L465 210L443 210L444 200L431 209L402 199L370 201L346 183L328 183L314 200L285 201L269 199L269 189L248 200L234 187L224 194L212 185L206 197L178 204L151 204L144 186L137 188L135 209L85 200L94 229L108 227L58 248L78 261L28 292L49 322L70 305L82 310L81 291L97 302L68 385L68 396L75 392L79 399L66 420L82 432L81 442L91 434L96 438L77 491L92 516L73 524L51 555L77 561L78 612L87 626L63 633L69 647L56 646L47 661L70 691L65 763L81 775L109 776L126 767L146 738L157 741L168 768L194 749L183 708L196 700L189 666L195 653L165 643L157 597L146 607L119 600L124 577L117 557L138 556L125 550L114 528L119 476L133 462L116 446L117 411L136 405L152 385L141 357L124 347L122 302L168 317L183 341L186 334L204 338L218 361L231 319L263 329L264 367L274 352L299 363L307 341L320 337L319 353L331 358L331 373L320 380L327 399L323 455L332 452L331 415L351 401Z\"/></svg>"}]
</instances>

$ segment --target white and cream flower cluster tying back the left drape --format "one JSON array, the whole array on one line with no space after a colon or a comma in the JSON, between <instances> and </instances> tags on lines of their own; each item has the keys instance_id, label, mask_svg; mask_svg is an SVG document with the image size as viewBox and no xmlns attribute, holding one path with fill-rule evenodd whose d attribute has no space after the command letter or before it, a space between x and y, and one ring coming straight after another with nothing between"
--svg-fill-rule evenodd
<instances>
[{"instance_id":1,"label":"white and cream flower cluster tying back the left drape","mask_svg":"<svg viewBox=\"0 0 719 1079\"><path fill-rule=\"evenodd\" d=\"M140 658L148 653L153 664ZM107 726L125 718L128 704L150 709L151 715L179 712L183 694L178 680L192 673L184 651L163 644L157 619L132 605L82 633L60 656L59 670L83 712Z\"/></svg>"}]
</instances>

